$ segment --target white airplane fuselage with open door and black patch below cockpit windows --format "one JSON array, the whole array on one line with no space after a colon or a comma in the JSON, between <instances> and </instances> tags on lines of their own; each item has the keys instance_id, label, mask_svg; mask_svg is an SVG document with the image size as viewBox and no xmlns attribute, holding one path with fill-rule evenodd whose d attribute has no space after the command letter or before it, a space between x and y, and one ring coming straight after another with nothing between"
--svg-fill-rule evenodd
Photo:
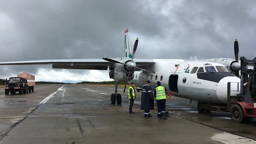
<instances>
[{"instance_id":1,"label":"white airplane fuselage with open door and black patch below cockpit windows","mask_svg":"<svg viewBox=\"0 0 256 144\"><path fill-rule=\"evenodd\" d=\"M150 80L151 88L154 90L157 86L156 82L160 81L161 85L167 89L166 92L177 89L178 92L175 93L177 97L215 105L226 104L228 82L235 82L231 83L231 90L234 91L231 95L239 94L240 78L228 71L206 72L206 66L214 66L215 69L215 66L223 66L224 70L228 69L222 64L207 60L154 59L154 61L156 63L147 69L156 71L158 74L135 71L133 80L128 83L134 82L137 87L142 88L146 81ZM175 65L179 65L178 68ZM195 73L191 73L194 67L198 69L194 71ZM200 67L203 67L202 73L198 71Z\"/></svg>"}]
</instances>

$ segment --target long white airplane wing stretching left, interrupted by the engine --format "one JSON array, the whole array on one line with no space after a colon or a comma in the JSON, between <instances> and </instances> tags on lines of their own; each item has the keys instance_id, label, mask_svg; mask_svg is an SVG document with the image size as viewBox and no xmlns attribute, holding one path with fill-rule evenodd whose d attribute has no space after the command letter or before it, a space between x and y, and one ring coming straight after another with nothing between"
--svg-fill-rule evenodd
<instances>
[{"instance_id":1,"label":"long white airplane wing stretching left, interrupted by the engine","mask_svg":"<svg viewBox=\"0 0 256 144\"><path fill-rule=\"evenodd\" d=\"M154 64L153 59L134 59L137 66L145 67ZM42 65L52 64L54 69L93 69L107 70L108 66L112 66L112 62L97 59L53 59L53 60L29 60L16 62L0 62L0 65ZM73 66L71 66L71 64Z\"/></svg>"}]
</instances>

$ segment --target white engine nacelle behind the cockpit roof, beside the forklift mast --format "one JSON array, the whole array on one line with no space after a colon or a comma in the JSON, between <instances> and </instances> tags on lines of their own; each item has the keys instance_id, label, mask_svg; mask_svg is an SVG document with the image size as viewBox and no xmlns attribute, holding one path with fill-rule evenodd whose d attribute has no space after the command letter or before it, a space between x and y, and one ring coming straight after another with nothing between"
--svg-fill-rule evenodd
<instances>
[{"instance_id":1,"label":"white engine nacelle behind the cockpit roof, beside the forklift mast","mask_svg":"<svg viewBox=\"0 0 256 144\"><path fill-rule=\"evenodd\" d=\"M230 58L215 58L215 59L207 59L209 62L219 63L226 66L231 66L229 69L231 71L239 71L241 69L240 62L236 62L235 59Z\"/></svg>"}]
</instances>

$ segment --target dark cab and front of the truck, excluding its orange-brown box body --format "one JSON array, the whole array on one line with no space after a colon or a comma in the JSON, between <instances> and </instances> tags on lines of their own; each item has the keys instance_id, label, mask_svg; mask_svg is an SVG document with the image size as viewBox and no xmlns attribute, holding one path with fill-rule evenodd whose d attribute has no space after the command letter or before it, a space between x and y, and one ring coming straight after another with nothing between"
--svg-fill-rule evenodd
<instances>
[{"instance_id":1,"label":"dark cab and front of the truck, excluding its orange-brown box body","mask_svg":"<svg viewBox=\"0 0 256 144\"><path fill-rule=\"evenodd\" d=\"M11 77L9 80L6 79L5 95L9 95L9 92L15 94L17 91L21 95L28 93L27 79L20 77Z\"/></svg>"}]
</instances>

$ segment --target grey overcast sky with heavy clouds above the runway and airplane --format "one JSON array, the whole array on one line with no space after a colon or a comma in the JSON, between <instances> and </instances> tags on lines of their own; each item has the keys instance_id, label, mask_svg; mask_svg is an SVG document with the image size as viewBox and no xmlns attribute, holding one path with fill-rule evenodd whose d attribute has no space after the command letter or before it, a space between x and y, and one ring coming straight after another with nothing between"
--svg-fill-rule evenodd
<instances>
[{"instance_id":1,"label":"grey overcast sky with heavy clouds above the runway and airplane","mask_svg":"<svg viewBox=\"0 0 256 144\"><path fill-rule=\"evenodd\" d=\"M136 58L235 58L238 39L239 56L252 59L255 23L255 0L0 0L0 61L123 57L126 28L132 49L139 38ZM4 79L111 80L107 71L52 65L0 69Z\"/></svg>"}]
</instances>

